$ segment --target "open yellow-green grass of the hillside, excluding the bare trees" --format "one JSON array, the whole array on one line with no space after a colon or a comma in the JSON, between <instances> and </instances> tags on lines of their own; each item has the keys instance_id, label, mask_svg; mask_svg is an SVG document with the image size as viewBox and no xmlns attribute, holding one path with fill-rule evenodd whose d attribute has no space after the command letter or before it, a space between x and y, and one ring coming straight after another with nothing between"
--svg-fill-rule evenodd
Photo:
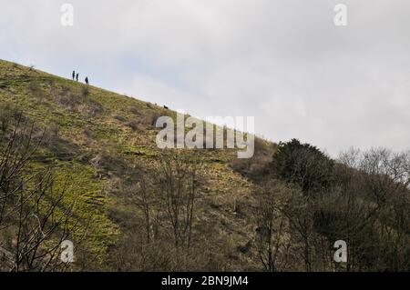
<instances>
[{"instance_id":1,"label":"open yellow-green grass of the hillside, excluding the bare trees","mask_svg":"<svg viewBox=\"0 0 410 290\"><path fill-rule=\"evenodd\" d=\"M154 124L160 115L175 117L175 113L6 61L0 61L0 103L4 112L21 110L37 128L46 129L46 142L30 165L53 165L59 175L69 175L67 192L78 196L76 216L87 216L84 245L87 255L95 256L92 267L110 269L110 252L124 232L141 226L136 206L122 195L122 181L136 166L148 168L161 157ZM263 155L272 155L272 145L261 140L258 144ZM235 152L183 150L181 154L200 154L204 164L196 223L212 238L214 252L228 261L226 269L254 268L254 253L241 251L253 235L252 182L232 169ZM255 158L263 162L260 155ZM247 166L241 164L241 169Z\"/></svg>"}]
</instances>

